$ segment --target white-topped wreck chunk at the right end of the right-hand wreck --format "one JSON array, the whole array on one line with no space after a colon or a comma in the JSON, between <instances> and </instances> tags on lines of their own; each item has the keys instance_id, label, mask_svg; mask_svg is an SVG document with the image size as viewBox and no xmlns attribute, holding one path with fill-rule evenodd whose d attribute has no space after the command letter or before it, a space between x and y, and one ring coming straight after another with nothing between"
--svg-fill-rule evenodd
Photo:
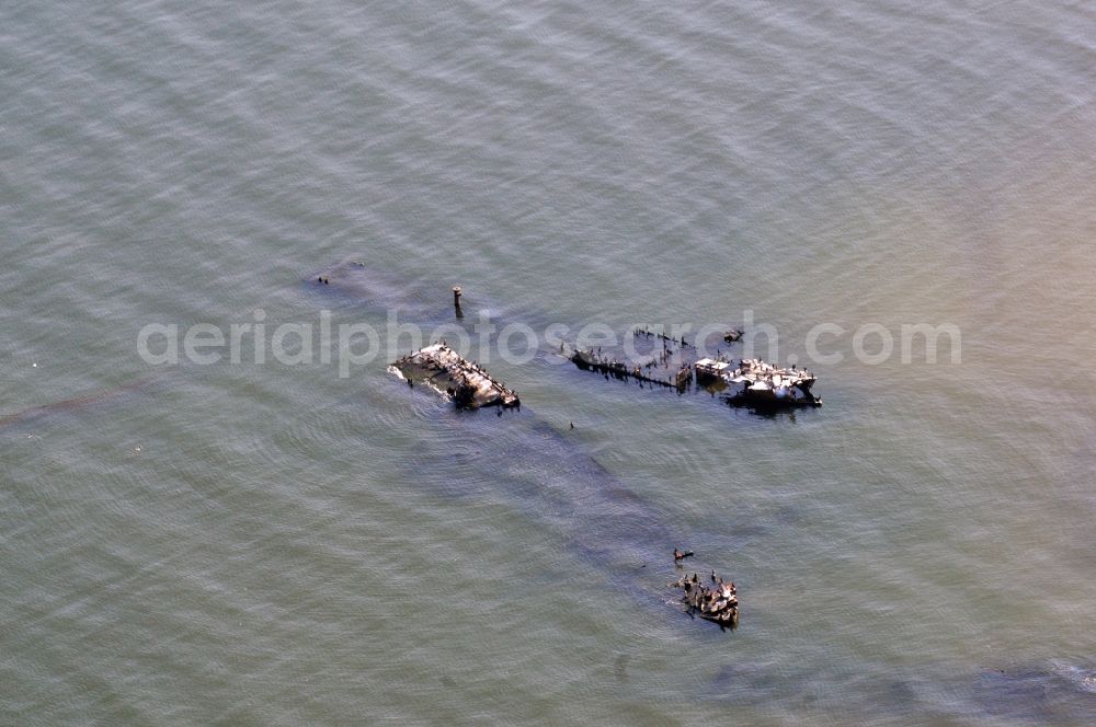
<instances>
[{"instance_id":1,"label":"white-topped wreck chunk at the right end of the right-hand wreck","mask_svg":"<svg viewBox=\"0 0 1096 727\"><path fill-rule=\"evenodd\" d=\"M822 397L811 392L818 377L794 366L784 369L758 358L745 358L734 367L722 358L704 358L695 369L697 382L703 384L742 384L724 397L732 406L822 406Z\"/></svg>"}]
</instances>

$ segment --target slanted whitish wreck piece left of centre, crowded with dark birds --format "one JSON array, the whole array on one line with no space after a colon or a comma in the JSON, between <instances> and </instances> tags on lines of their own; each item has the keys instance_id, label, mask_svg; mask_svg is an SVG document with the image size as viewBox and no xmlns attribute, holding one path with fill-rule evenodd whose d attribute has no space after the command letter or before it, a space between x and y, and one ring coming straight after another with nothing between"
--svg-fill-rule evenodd
<instances>
[{"instance_id":1,"label":"slanted whitish wreck piece left of centre, crowded with dark birds","mask_svg":"<svg viewBox=\"0 0 1096 727\"><path fill-rule=\"evenodd\" d=\"M516 391L495 381L481 366L467 360L444 342L404 356L391 368L410 385L422 382L452 397L457 408L520 408L522 405Z\"/></svg>"}]
</instances>

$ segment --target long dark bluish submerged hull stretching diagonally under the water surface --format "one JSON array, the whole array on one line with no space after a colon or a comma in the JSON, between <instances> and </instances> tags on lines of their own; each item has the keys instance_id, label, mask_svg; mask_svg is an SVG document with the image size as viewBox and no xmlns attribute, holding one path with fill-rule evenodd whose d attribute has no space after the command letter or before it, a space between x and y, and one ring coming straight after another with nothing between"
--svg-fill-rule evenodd
<instances>
[{"instance_id":1,"label":"long dark bluish submerged hull stretching diagonally under the water surface","mask_svg":"<svg viewBox=\"0 0 1096 727\"><path fill-rule=\"evenodd\" d=\"M318 272L306 278L305 285L318 295L367 305L374 313L399 311L402 322L465 325L473 344L478 341L470 322L475 315L469 315L476 310L475 302L469 303L465 296L463 313L469 322L464 323L446 295L447 286L399 284L354 262ZM509 315L502 313L494 321L505 325ZM540 355L555 351L544 349ZM415 386L408 395L433 394L423 394ZM477 470L492 473L492 480L514 496L515 507L549 524L570 550L597 566L606 585L646 602L672 603L687 613L687 607L680 603L680 591L666 587L667 580L680 576L673 550L685 540L683 529L667 524L665 512L583 452L569 429L552 426L525 401L520 412L501 417L487 411L444 408L437 422L424 423L426 427L439 425L460 427L463 453L468 457L475 452ZM444 459L445 454L436 457ZM695 567L701 568L701 564Z\"/></svg>"}]
</instances>

